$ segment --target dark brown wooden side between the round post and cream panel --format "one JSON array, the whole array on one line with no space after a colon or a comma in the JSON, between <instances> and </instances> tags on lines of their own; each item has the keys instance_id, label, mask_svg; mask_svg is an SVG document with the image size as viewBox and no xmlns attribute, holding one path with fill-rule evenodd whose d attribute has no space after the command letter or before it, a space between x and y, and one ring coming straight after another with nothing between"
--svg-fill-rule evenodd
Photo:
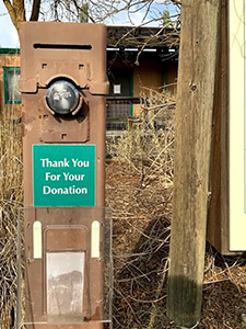
<instances>
[{"instance_id":1,"label":"dark brown wooden side between the round post and cream panel","mask_svg":"<svg viewBox=\"0 0 246 329\"><path fill-rule=\"evenodd\" d=\"M208 239L223 254L229 250L229 1L222 0L213 111Z\"/></svg>"}]
</instances>

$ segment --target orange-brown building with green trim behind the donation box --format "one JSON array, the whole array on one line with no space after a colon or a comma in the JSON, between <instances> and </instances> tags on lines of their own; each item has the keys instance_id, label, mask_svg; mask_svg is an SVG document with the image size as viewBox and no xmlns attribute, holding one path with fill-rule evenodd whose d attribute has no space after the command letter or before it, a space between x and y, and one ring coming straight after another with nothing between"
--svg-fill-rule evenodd
<instances>
[{"instance_id":1,"label":"orange-brown building with green trim behind the donation box","mask_svg":"<svg viewBox=\"0 0 246 329\"><path fill-rule=\"evenodd\" d=\"M20 49L0 48L0 111L16 104L16 120L21 117L20 65ZM175 95L177 66L177 30L107 26L107 131L125 129L127 118L137 116L153 92Z\"/></svg>"}]
</instances>

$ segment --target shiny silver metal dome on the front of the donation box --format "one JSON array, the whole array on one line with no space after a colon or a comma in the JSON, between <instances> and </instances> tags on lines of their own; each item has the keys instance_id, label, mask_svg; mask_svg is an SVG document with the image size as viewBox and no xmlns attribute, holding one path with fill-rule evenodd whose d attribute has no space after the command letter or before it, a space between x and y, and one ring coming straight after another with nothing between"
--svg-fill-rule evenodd
<instances>
[{"instance_id":1,"label":"shiny silver metal dome on the front of the donation box","mask_svg":"<svg viewBox=\"0 0 246 329\"><path fill-rule=\"evenodd\" d=\"M80 94L71 82L59 80L48 88L46 100L54 112L68 114L79 105Z\"/></svg>"}]
</instances>

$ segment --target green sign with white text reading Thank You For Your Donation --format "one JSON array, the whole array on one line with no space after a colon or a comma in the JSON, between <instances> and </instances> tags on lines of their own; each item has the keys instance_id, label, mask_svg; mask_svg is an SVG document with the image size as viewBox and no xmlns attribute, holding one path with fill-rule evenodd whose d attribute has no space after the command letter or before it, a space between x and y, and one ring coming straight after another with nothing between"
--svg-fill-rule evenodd
<instances>
[{"instance_id":1,"label":"green sign with white text reading Thank You For Your Donation","mask_svg":"<svg viewBox=\"0 0 246 329\"><path fill-rule=\"evenodd\" d=\"M95 145L33 145L34 206L95 205Z\"/></svg>"}]
</instances>

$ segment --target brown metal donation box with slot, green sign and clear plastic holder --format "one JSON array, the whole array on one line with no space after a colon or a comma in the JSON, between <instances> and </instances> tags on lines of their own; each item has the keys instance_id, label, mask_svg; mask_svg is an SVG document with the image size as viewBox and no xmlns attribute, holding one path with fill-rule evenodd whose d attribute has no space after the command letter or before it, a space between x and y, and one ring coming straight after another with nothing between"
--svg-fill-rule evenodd
<instances>
[{"instance_id":1,"label":"brown metal donation box with slot, green sign and clear plastic holder","mask_svg":"<svg viewBox=\"0 0 246 329\"><path fill-rule=\"evenodd\" d=\"M20 90L17 328L101 329L112 290L106 26L23 23Z\"/></svg>"}]
</instances>

